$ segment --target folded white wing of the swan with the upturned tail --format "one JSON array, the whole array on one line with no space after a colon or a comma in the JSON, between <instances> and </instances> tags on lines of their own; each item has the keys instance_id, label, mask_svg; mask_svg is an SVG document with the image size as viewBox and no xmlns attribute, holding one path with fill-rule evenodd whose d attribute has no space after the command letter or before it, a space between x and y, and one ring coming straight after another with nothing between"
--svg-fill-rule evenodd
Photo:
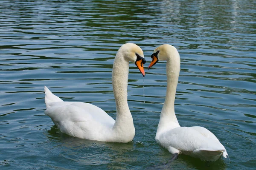
<instances>
[{"instance_id":1,"label":"folded white wing of the swan with the upturned tail","mask_svg":"<svg viewBox=\"0 0 256 170\"><path fill-rule=\"evenodd\" d=\"M115 123L101 108L83 102L51 102L45 114L61 132L90 140L100 140Z\"/></svg>"}]
</instances>

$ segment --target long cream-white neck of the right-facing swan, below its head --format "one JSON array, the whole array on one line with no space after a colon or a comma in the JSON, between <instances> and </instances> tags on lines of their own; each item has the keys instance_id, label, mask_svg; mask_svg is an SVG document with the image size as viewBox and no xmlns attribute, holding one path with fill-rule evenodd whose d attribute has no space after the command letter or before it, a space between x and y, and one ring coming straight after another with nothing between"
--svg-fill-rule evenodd
<instances>
[{"instance_id":1,"label":"long cream-white neck of the right-facing swan, below its head","mask_svg":"<svg viewBox=\"0 0 256 170\"><path fill-rule=\"evenodd\" d=\"M113 129L117 133L135 134L134 123L127 102L128 73L129 62L122 56L122 52L118 51L112 71L113 93L116 101L116 122Z\"/></svg>"}]
</instances>

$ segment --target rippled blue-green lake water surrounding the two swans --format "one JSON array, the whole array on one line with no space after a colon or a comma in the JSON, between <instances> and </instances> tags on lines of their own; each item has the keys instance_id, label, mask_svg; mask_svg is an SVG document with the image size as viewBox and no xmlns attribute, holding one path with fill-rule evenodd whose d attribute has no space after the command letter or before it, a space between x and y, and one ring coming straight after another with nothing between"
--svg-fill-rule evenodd
<instances>
[{"instance_id":1,"label":"rippled blue-green lake water surrounding the two swans","mask_svg":"<svg viewBox=\"0 0 256 170\"><path fill-rule=\"evenodd\" d=\"M2 0L0 169L144 170L170 159L154 140L166 93L164 62L144 79L130 65L133 142L66 136L44 115L47 85L65 101L90 102L115 118L112 64L126 42L143 49L145 67L158 45L178 49L177 119L211 130L230 157L203 162L181 155L163 169L256 169L255 28L254 0Z\"/></svg>"}]
</instances>

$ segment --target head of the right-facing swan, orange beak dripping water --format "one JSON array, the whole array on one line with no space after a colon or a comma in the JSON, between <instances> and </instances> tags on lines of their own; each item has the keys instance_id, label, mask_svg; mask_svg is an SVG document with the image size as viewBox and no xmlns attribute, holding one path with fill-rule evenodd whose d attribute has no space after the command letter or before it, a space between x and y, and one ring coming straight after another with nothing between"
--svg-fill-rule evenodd
<instances>
[{"instance_id":1,"label":"head of the right-facing swan, orange beak dripping water","mask_svg":"<svg viewBox=\"0 0 256 170\"><path fill-rule=\"evenodd\" d=\"M144 58L142 49L134 43L126 43L120 47L120 51L127 61L135 63L144 77L145 71L143 64L146 63L146 60Z\"/></svg>"}]
</instances>

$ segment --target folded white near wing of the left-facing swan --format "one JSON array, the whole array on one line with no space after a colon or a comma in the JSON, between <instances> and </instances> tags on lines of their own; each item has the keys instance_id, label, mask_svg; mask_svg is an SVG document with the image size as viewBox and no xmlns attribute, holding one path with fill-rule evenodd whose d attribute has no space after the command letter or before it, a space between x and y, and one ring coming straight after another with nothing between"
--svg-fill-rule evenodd
<instances>
[{"instance_id":1,"label":"folded white near wing of the left-facing swan","mask_svg":"<svg viewBox=\"0 0 256 170\"><path fill-rule=\"evenodd\" d=\"M195 129L198 128L176 127L161 134L159 142L172 154L179 150L200 159L204 159L201 155L212 158L211 155L219 157L225 152L224 146L218 140L212 140Z\"/></svg>"}]
</instances>

